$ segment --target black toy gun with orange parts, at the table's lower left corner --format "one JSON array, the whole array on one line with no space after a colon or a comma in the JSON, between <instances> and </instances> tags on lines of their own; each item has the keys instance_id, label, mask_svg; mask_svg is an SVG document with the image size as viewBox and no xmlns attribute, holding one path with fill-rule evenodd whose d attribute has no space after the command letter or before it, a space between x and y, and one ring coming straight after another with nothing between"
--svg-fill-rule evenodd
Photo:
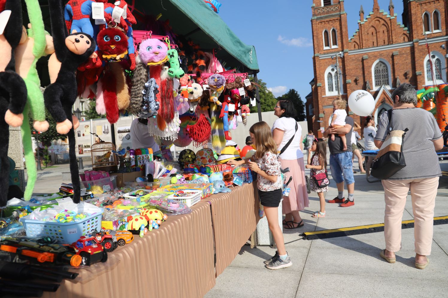
<instances>
[{"instance_id":1,"label":"black toy gun with orange parts, at the table's lower left corner","mask_svg":"<svg viewBox=\"0 0 448 298\"><path fill-rule=\"evenodd\" d=\"M80 255L75 255L69 251L63 253L52 253L52 252L39 252L31 249L25 249L22 247L15 247L12 245L0 245L0 251L9 251L17 255L25 255L31 258L35 258L39 263L44 262L57 262L62 264L70 264L73 267L78 267L81 264L82 257Z\"/></svg>"}]
</instances>

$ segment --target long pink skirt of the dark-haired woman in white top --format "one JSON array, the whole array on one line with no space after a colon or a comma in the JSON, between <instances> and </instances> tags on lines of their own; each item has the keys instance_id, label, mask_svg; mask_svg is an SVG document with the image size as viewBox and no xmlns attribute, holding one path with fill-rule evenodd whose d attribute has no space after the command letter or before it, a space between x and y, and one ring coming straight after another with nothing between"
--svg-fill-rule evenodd
<instances>
[{"instance_id":1,"label":"long pink skirt of the dark-haired woman in white top","mask_svg":"<svg viewBox=\"0 0 448 298\"><path fill-rule=\"evenodd\" d=\"M289 196L283 197L283 214L305 209L305 207L309 206L310 201L306 192L305 163L303 162L303 158L292 160L279 158L279 160L282 169L289 168L289 172L284 174L286 176L286 182L288 182L290 176L293 177L293 180L288 184L288 187L291 188Z\"/></svg>"}]
</instances>

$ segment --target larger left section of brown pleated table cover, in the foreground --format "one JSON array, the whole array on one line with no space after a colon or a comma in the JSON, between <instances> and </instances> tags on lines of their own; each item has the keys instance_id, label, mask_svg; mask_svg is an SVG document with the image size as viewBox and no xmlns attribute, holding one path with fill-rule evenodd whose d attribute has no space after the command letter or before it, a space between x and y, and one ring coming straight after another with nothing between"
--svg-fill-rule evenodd
<instances>
[{"instance_id":1,"label":"larger left section of brown pleated table cover, in the foreground","mask_svg":"<svg viewBox=\"0 0 448 298\"><path fill-rule=\"evenodd\" d=\"M135 235L106 263L74 269L77 280L44 297L203 297L215 286L210 205L201 201L192 209L143 238Z\"/></svg>"}]
</instances>

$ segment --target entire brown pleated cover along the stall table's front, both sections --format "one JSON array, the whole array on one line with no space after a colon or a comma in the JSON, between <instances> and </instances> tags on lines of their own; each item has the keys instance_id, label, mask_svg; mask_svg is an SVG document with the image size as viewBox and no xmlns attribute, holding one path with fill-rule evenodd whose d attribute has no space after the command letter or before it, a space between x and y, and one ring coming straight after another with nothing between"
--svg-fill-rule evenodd
<instances>
[{"instance_id":1,"label":"entire brown pleated cover along the stall table's front, both sections","mask_svg":"<svg viewBox=\"0 0 448 298\"><path fill-rule=\"evenodd\" d=\"M78 280L66 280L44 297L98 297L99 285L107 285L110 297L202 297L257 225L253 189L246 184L202 200L192 213L170 217L159 230L117 249L108 262L78 269Z\"/></svg>"}]
</instances>

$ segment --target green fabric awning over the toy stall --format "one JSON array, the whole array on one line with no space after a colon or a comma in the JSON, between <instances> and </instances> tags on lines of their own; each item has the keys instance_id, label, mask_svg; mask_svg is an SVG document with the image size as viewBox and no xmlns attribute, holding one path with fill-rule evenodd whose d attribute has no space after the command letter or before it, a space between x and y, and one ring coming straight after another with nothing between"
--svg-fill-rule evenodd
<instances>
[{"instance_id":1,"label":"green fabric awning over the toy stall","mask_svg":"<svg viewBox=\"0 0 448 298\"><path fill-rule=\"evenodd\" d=\"M201 49L211 51L215 48L216 57L221 62L225 61L226 68L238 68L241 72L258 72L255 47L243 43L203 0L135 2L135 9L142 13L155 16L161 13L160 20L169 19L169 25L176 34L191 38ZM138 29L138 24L135 29ZM240 34L245 34L243 27Z\"/></svg>"}]
</instances>

